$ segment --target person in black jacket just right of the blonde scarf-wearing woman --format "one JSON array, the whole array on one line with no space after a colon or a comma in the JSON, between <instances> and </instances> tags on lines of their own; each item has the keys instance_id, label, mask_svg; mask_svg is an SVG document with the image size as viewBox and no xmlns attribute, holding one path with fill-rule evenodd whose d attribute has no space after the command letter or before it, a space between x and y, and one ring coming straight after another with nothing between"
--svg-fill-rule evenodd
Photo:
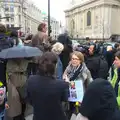
<instances>
[{"instance_id":1,"label":"person in black jacket just right of the blonde scarf-wearing woman","mask_svg":"<svg viewBox=\"0 0 120 120\"><path fill-rule=\"evenodd\" d=\"M99 48L96 44L90 45L89 47L86 65L90 70L93 79L107 79L108 63L105 58L99 54Z\"/></svg>"}]
</instances>

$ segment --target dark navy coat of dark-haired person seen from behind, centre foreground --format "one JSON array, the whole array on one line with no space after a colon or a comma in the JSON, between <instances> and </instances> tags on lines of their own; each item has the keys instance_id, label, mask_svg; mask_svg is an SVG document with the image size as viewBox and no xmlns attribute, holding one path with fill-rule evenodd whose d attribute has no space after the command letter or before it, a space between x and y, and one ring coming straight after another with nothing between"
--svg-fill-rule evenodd
<instances>
[{"instance_id":1,"label":"dark navy coat of dark-haired person seen from behind, centre foreground","mask_svg":"<svg viewBox=\"0 0 120 120\"><path fill-rule=\"evenodd\" d=\"M66 120L61 102L68 99L68 83L52 77L31 76L26 98L34 109L34 120Z\"/></svg>"}]
</instances>

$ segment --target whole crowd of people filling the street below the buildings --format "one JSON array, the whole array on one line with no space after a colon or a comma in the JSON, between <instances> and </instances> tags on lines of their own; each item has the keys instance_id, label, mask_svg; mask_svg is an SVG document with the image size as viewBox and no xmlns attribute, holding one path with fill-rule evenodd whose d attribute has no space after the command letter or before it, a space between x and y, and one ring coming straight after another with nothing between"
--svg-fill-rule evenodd
<instances>
[{"instance_id":1,"label":"whole crowd of people filling the street below the buildings","mask_svg":"<svg viewBox=\"0 0 120 120\"><path fill-rule=\"evenodd\" d=\"M33 120L70 120L72 114L77 114L76 120L120 120L120 43L102 52L96 42L73 49L67 31L57 41L46 31L41 23L35 35L21 41L16 31L6 35L0 24L1 51L24 45L43 52L41 57L0 60L0 119L7 111L13 120L25 120L30 104ZM77 113L76 102L68 101L71 81L83 85Z\"/></svg>"}]
</instances>

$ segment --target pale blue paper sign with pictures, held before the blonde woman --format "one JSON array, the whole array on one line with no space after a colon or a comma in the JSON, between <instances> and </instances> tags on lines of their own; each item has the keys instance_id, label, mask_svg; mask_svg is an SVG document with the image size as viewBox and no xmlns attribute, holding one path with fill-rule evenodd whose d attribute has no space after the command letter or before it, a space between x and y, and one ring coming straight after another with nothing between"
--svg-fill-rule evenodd
<instances>
[{"instance_id":1,"label":"pale blue paper sign with pictures, held before the blonde woman","mask_svg":"<svg viewBox=\"0 0 120 120\"><path fill-rule=\"evenodd\" d=\"M82 80L71 81L69 86L70 102L82 102L84 96Z\"/></svg>"}]
</instances>

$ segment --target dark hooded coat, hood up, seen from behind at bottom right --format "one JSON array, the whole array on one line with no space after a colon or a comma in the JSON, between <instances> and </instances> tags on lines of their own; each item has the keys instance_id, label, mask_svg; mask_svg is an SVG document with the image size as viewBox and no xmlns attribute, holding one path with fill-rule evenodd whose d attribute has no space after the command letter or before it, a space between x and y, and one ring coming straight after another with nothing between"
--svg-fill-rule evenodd
<instances>
[{"instance_id":1,"label":"dark hooded coat, hood up, seen from behind at bottom right","mask_svg":"<svg viewBox=\"0 0 120 120\"><path fill-rule=\"evenodd\" d=\"M97 79L88 86L80 113L89 120L120 120L116 95L108 81Z\"/></svg>"}]
</instances>

